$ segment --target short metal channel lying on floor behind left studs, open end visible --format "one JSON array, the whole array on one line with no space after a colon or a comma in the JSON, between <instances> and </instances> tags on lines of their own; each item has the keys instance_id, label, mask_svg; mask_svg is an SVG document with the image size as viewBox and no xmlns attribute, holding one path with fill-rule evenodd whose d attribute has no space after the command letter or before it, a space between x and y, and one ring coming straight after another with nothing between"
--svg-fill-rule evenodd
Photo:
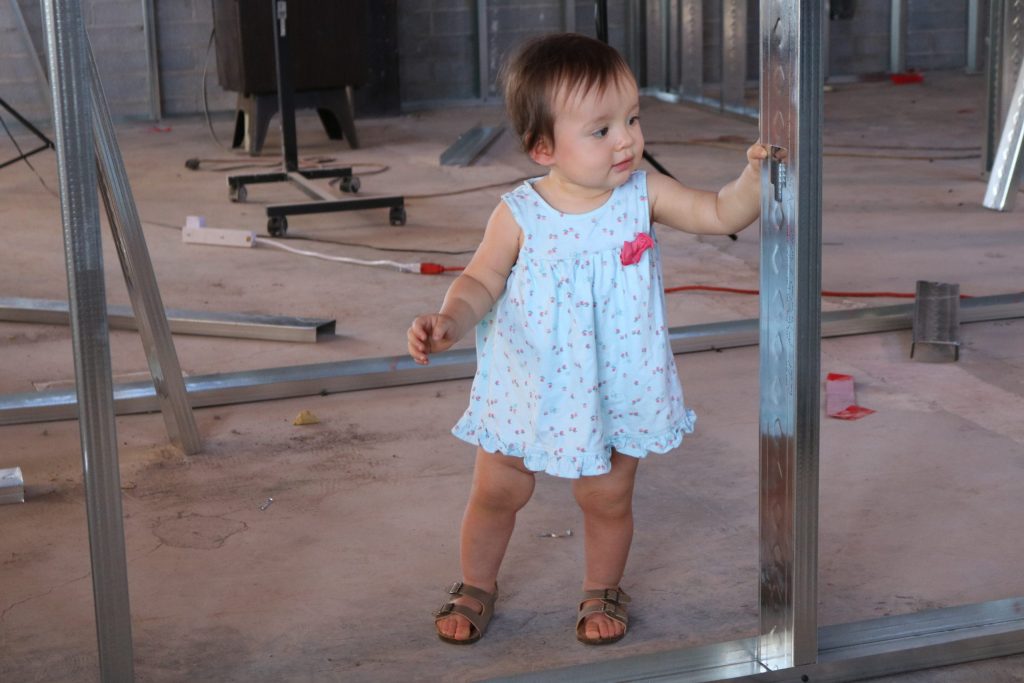
<instances>
[{"instance_id":1,"label":"short metal channel lying on floor behind left studs, open end visible","mask_svg":"<svg viewBox=\"0 0 1024 683\"><path fill-rule=\"evenodd\" d=\"M334 335L336 321L286 315L247 315L203 310L167 308L167 323L173 334L231 339L315 343ZM0 297L0 321L68 325L68 302L53 299ZM106 322L112 330L138 330L129 306L106 306Z\"/></svg>"}]
</instances>

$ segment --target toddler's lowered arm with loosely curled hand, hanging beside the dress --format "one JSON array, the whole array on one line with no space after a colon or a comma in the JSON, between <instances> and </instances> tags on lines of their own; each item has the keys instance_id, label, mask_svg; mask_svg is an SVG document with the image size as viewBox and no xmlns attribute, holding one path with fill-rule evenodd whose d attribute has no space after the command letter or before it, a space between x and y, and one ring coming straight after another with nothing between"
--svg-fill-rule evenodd
<instances>
[{"instance_id":1,"label":"toddler's lowered arm with loosely curled hand, hanging beside the dress","mask_svg":"<svg viewBox=\"0 0 1024 683\"><path fill-rule=\"evenodd\" d=\"M473 329L505 291L505 281L519 254L522 230L504 202L498 205L483 240L466 269L455 279L437 313L420 315L410 326L409 354L421 366L429 355L450 348Z\"/></svg>"}]
</instances>

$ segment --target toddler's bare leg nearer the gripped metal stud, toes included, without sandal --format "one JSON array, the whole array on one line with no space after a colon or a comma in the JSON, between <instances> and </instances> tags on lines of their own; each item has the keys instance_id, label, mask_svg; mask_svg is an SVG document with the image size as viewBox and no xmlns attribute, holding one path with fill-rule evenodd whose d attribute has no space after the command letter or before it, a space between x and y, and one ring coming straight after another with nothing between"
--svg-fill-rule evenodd
<instances>
[{"instance_id":1,"label":"toddler's bare leg nearer the gripped metal stud, toes included, without sandal","mask_svg":"<svg viewBox=\"0 0 1024 683\"><path fill-rule=\"evenodd\" d=\"M572 483L584 516L585 591L615 588L623 579L633 542L633 483L638 462L612 452L610 472L581 477ZM585 624L585 635L591 639L617 636L625 629L600 612L588 616Z\"/></svg>"}]
</instances>

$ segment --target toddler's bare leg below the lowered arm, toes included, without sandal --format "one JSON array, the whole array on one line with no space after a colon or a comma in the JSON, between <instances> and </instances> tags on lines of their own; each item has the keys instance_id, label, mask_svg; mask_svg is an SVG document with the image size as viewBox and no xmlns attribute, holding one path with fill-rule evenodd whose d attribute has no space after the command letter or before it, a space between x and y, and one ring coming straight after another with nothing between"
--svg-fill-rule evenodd
<instances>
[{"instance_id":1,"label":"toddler's bare leg below the lowered arm, toes included, without sandal","mask_svg":"<svg viewBox=\"0 0 1024 683\"><path fill-rule=\"evenodd\" d=\"M476 450L473 487L462 518L463 582L488 593L495 591L516 513L534 495L534 473L523 466L522 458ZM480 609L472 598L460 597L455 602ZM469 621L461 614L440 620L437 630L457 640L470 636Z\"/></svg>"}]
</instances>

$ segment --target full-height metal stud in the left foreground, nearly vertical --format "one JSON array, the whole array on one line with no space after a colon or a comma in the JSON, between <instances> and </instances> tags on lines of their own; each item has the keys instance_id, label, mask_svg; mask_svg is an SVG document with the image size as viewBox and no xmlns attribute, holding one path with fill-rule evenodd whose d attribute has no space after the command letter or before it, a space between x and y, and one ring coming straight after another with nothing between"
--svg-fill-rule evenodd
<instances>
[{"instance_id":1,"label":"full-height metal stud in the left foreground, nearly vertical","mask_svg":"<svg viewBox=\"0 0 1024 683\"><path fill-rule=\"evenodd\" d=\"M134 680L121 477L106 331L89 56L77 0L44 0L92 591L103 681Z\"/></svg>"}]
</instances>

